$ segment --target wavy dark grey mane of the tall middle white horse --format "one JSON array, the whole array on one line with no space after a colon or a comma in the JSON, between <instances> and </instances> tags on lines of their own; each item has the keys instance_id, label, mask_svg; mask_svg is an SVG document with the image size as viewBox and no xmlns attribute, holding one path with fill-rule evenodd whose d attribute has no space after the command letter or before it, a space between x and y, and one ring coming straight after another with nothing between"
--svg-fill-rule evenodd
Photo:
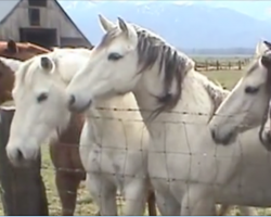
<instances>
[{"instance_id":1,"label":"wavy dark grey mane of the tall middle white horse","mask_svg":"<svg viewBox=\"0 0 271 217\"><path fill-rule=\"evenodd\" d=\"M164 91L160 95L154 95L157 99L158 107L152 115L157 116L177 105L182 93L183 79L194 68L195 63L158 35L136 24L131 25L139 39L137 46L139 73L151 69L155 63L158 63L158 72L164 74ZM119 36L119 33L117 27L108 30L99 47L108 44Z\"/></svg>"}]
</instances>

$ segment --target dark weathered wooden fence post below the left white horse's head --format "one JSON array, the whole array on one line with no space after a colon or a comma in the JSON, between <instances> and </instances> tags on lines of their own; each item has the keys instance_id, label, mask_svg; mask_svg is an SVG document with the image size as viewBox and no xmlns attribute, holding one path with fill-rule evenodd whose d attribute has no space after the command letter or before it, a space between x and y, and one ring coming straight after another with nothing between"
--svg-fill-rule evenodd
<instances>
[{"instance_id":1,"label":"dark weathered wooden fence post below the left white horse's head","mask_svg":"<svg viewBox=\"0 0 271 217\"><path fill-rule=\"evenodd\" d=\"M0 107L0 182L5 216L48 216L41 157L28 168L15 168L5 153L14 108ZM23 123L22 123L23 124Z\"/></svg>"}]
</instances>

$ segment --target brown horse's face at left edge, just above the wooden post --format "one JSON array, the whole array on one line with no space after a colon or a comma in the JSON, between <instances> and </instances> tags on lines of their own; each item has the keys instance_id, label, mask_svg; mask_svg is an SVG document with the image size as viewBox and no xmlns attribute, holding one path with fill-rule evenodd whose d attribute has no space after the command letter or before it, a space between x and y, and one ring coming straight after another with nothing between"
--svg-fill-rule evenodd
<instances>
[{"instance_id":1,"label":"brown horse's face at left edge, just above the wooden post","mask_svg":"<svg viewBox=\"0 0 271 217\"><path fill-rule=\"evenodd\" d=\"M12 100L14 72L0 60L0 104Z\"/></svg>"}]
</instances>

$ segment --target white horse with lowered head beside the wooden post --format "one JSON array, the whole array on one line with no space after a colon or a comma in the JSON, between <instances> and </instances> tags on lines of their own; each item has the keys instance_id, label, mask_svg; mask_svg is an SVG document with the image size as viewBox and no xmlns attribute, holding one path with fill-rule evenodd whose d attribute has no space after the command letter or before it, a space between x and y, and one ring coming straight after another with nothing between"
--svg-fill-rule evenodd
<instances>
[{"instance_id":1,"label":"white horse with lowered head beside the wooden post","mask_svg":"<svg viewBox=\"0 0 271 217\"><path fill-rule=\"evenodd\" d=\"M88 50L57 49L52 53L26 61L16 72L13 90L16 112L7 146L8 156L13 163L22 165L25 161L35 158L43 141L50 138L55 129L62 130L66 127L69 112L63 100L64 89L75 75L74 72L86 64L89 56ZM212 90L216 86L207 88L211 88L209 91L216 93ZM217 97L212 94L211 98ZM129 199L132 200L130 201L132 205L127 204L125 214L141 215L145 201L143 196L146 195L149 188L146 166L144 166L146 146L143 133L146 132L142 122L131 122L134 118L141 120L136 100L130 93L100 101L96 106L119 110L133 107L136 112L93 108L88 113L91 118L88 118L83 127L80 148L81 159L88 171L87 184L102 215L116 214L114 197L116 188L122 190L128 202ZM122 120L118 120L120 118ZM147 137L147 133L145 136ZM126 151L124 145L128 145L129 149ZM98 155L101 151L104 155L102 162L99 162ZM132 168L138 170L134 171ZM99 199L100 195L102 199ZM137 209L139 205L141 209ZM222 206L220 215L225 212L225 207ZM246 207L242 207L241 210L244 215L255 214L251 213L253 209Z\"/></svg>"}]
</instances>

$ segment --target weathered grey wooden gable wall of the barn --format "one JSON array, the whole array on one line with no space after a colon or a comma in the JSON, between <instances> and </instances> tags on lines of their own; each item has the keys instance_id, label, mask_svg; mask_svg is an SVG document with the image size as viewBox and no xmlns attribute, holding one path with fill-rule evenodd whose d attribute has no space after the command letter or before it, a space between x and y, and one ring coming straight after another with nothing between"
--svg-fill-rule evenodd
<instances>
[{"instance_id":1,"label":"weathered grey wooden gable wall of the barn","mask_svg":"<svg viewBox=\"0 0 271 217\"><path fill-rule=\"evenodd\" d=\"M80 35L80 33L74 27L69 20L63 14L55 1L48 0L47 8L40 9L40 26L42 28L56 28L57 29L57 43L60 44L60 38L81 38L85 44L89 42ZM29 28L28 21L28 1L24 0L15 9L13 14L0 26L0 39L20 40L20 28Z\"/></svg>"}]
</instances>

